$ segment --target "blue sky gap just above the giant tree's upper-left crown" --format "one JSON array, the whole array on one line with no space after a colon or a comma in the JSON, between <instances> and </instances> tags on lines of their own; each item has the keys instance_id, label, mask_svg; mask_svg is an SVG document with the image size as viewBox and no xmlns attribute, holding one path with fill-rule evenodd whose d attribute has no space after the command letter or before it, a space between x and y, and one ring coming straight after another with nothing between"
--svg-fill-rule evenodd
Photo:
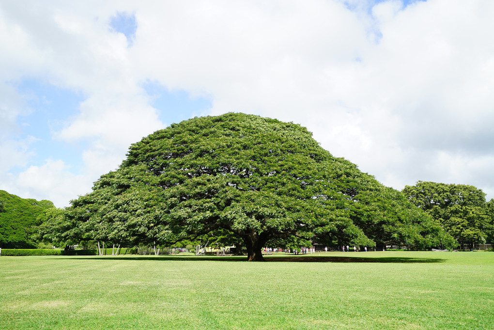
<instances>
[{"instance_id":1,"label":"blue sky gap just above the giant tree's upper-left crown","mask_svg":"<svg viewBox=\"0 0 494 330\"><path fill-rule=\"evenodd\" d=\"M151 105L159 111L160 120L167 125L201 116L212 107L210 98L191 97L185 90L171 92L158 82L145 82L142 88L153 98Z\"/></svg>"}]
</instances>

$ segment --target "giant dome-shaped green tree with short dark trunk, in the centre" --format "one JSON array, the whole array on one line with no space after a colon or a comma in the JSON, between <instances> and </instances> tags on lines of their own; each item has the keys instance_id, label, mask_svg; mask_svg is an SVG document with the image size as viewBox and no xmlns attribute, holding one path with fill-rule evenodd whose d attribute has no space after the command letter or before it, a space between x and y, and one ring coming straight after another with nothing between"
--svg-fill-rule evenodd
<instances>
[{"instance_id":1,"label":"giant dome-shaped green tree with short dark trunk, in the centre","mask_svg":"<svg viewBox=\"0 0 494 330\"><path fill-rule=\"evenodd\" d=\"M399 192L333 157L306 128L229 113L172 124L72 201L66 240L170 245L219 234L262 260L270 240L438 245L444 233Z\"/></svg>"}]
</instances>

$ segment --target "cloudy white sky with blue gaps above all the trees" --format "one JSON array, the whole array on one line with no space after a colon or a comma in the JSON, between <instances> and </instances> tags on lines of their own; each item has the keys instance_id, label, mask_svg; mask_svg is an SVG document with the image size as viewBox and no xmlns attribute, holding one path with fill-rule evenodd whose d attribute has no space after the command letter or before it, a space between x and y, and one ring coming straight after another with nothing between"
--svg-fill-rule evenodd
<instances>
[{"instance_id":1,"label":"cloudy white sky with blue gaps above all the trees","mask_svg":"<svg viewBox=\"0 0 494 330\"><path fill-rule=\"evenodd\" d=\"M301 124L386 186L494 198L494 1L0 1L0 190L70 205L195 116Z\"/></svg>"}]
</instances>

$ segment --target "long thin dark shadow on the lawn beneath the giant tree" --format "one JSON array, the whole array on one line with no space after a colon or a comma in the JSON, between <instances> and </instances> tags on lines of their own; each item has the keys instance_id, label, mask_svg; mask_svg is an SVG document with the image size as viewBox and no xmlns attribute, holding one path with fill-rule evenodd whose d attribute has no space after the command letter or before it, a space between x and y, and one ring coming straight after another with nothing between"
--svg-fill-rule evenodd
<instances>
[{"instance_id":1,"label":"long thin dark shadow on the lawn beneath the giant tree","mask_svg":"<svg viewBox=\"0 0 494 330\"><path fill-rule=\"evenodd\" d=\"M147 260L147 261L244 261L245 256L96 256L71 257L64 259L75 260ZM438 263L446 262L440 258L412 258L412 257L340 257L340 256L265 256L266 262L361 262L361 263Z\"/></svg>"}]
</instances>

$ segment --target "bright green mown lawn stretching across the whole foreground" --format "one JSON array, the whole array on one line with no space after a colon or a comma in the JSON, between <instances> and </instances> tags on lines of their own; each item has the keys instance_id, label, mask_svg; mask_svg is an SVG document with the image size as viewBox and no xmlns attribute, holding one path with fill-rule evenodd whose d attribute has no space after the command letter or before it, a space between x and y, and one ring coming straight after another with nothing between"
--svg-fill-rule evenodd
<instances>
[{"instance_id":1,"label":"bright green mown lawn stretching across the whole foreground","mask_svg":"<svg viewBox=\"0 0 494 330\"><path fill-rule=\"evenodd\" d=\"M0 329L494 329L492 252L0 257Z\"/></svg>"}]
</instances>

